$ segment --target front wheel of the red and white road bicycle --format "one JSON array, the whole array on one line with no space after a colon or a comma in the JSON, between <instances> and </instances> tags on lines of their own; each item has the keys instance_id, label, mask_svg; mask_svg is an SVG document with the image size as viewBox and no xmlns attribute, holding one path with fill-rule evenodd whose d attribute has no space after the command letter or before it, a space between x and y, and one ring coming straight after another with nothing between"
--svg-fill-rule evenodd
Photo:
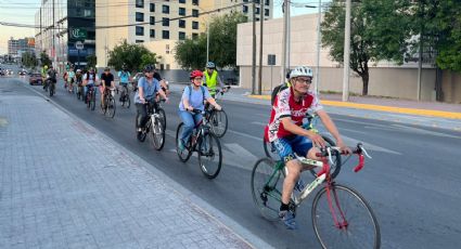
<instances>
[{"instance_id":1,"label":"front wheel of the red and white road bicycle","mask_svg":"<svg viewBox=\"0 0 461 249\"><path fill-rule=\"evenodd\" d=\"M370 205L355 189L333 183L312 204L312 225L322 248L380 248L381 233Z\"/></svg>"}]
</instances>

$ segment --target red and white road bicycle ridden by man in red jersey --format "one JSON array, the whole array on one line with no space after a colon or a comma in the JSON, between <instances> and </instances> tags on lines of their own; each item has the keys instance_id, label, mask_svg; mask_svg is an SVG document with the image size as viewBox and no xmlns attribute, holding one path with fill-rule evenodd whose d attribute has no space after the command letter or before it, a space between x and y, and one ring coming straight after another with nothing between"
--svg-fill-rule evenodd
<instances>
[{"instance_id":1,"label":"red and white road bicycle ridden by man in red jersey","mask_svg":"<svg viewBox=\"0 0 461 249\"><path fill-rule=\"evenodd\" d=\"M326 147L318 153L321 160L296 158L303 163L313 166L320 171L318 176L307 184L298 194L293 191L290 210L296 208L321 186L313 197L311 220L316 236L322 248L380 248L381 233L376 217L367 200L354 188L338 184L331 174L332 150ZM353 150L358 156L355 172L364 166L364 156L371 158L362 144ZM262 217L267 220L279 220L279 207L282 198L283 180L287 171L283 161L270 158L259 159L252 172L252 195Z\"/></svg>"}]
</instances>

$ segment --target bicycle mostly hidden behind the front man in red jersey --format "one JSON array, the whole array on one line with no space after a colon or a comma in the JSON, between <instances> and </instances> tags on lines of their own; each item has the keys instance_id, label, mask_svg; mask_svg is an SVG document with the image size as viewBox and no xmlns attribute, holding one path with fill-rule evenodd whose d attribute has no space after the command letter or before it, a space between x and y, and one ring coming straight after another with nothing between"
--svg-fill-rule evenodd
<instances>
[{"instance_id":1,"label":"bicycle mostly hidden behind the front man in red jersey","mask_svg":"<svg viewBox=\"0 0 461 249\"><path fill-rule=\"evenodd\" d=\"M319 116L317 116L315 113L313 114L306 114L305 117L305 121L303 124L303 128L309 131L313 131L315 133L319 134L319 130L317 130L315 127L317 124L317 121L319 119ZM322 136L322 139L326 142L328 146L336 146L336 143L330 139L329 136L324 135L324 134L320 134ZM268 137L266 136L266 132L265 135L262 136L262 147L265 150L265 154L267 157L273 159L273 160L279 160L280 156L279 153L277 152L276 146L273 145L273 143L269 142ZM332 158L333 158L333 162L331 163L331 171L332 171L332 178L336 178L336 175L340 173L341 170L341 155L336 152L333 150L332 152ZM310 170L310 172L312 173L313 176L317 176L316 171Z\"/></svg>"}]
</instances>

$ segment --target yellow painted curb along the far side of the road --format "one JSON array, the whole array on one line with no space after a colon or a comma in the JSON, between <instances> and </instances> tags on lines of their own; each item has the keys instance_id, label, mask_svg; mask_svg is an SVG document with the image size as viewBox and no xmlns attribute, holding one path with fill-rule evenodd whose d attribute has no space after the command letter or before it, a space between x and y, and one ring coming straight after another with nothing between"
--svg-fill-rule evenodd
<instances>
[{"instance_id":1,"label":"yellow painted curb along the far side of the road","mask_svg":"<svg viewBox=\"0 0 461 249\"><path fill-rule=\"evenodd\" d=\"M248 95L248 96L253 99L258 99L258 100L270 100L270 95ZM351 107L351 108L358 108L358 109L382 110L387 113L412 114L412 115L461 119L461 113L450 113L450 112L443 112L443 110L400 108L400 107L393 107L393 106L358 104L358 103L340 102L340 101L321 101L321 103L323 105L338 106L338 107Z\"/></svg>"}]
</instances>

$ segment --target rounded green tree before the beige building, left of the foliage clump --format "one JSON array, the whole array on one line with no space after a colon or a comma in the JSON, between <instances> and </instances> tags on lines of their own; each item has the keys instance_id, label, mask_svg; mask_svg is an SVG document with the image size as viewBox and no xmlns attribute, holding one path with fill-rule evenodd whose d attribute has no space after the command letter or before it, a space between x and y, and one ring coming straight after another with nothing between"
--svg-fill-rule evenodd
<instances>
[{"instance_id":1,"label":"rounded green tree before the beige building, left of the foliage clump","mask_svg":"<svg viewBox=\"0 0 461 249\"><path fill-rule=\"evenodd\" d=\"M127 40L124 40L119 45L114 47L108 52L108 65L113 66L116 70L120 70L124 63L127 65L128 70L137 71L142 69L142 61L140 60L143 55L149 55L152 64L156 64L156 55L149 51L141 44L128 44Z\"/></svg>"}]
</instances>

